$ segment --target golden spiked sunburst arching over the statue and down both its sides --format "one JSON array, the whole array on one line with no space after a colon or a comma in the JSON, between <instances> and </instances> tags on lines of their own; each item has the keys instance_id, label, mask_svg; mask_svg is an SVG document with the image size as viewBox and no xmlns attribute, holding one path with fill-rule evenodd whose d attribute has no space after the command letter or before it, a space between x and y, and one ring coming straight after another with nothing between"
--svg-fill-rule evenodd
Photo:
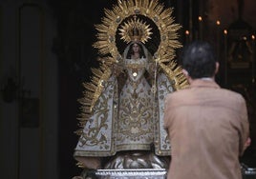
<instances>
[{"instance_id":1,"label":"golden spiked sunburst arching over the statue and down both its sides","mask_svg":"<svg viewBox=\"0 0 256 179\"><path fill-rule=\"evenodd\" d=\"M181 43L178 41L178 30L181 29L181 26L174 23L172 9L164 9L158 0L118 0L113 10L105 10L102 23L96 25L97 41L93 47L102 55L98 59L101 64L98 69L92 69L94 74L92 81L83 84L85 88L84 96L78 100L81 104L81 113L78 118L81 127L94 110L96 101L104 89L105 82L112 75L112 65L118 63L121 59L121 55L117 50L117 30L119 28L121 31L120 36L123 40L130 41L126 36L126 32L131 27L132 22L126 22L125 20L134 15L150 19L158 28L160 44L153 54L154 61L167 75L174 89L182 89L187 86L181 67L174 60L175 50L181 48ZM146 41L151 34L150 28L145 22L138 20L135 23L146 31L143 37L143 40ZM79 132L81 130L77 131L77 133Z\"/></svg>"}]
</instances>

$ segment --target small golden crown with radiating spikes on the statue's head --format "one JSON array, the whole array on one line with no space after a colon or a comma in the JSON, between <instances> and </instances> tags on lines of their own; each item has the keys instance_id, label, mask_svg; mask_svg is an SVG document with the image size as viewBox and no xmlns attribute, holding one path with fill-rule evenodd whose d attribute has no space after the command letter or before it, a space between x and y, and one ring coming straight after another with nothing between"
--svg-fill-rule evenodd
<instances>
[{"instance_id":1,"label":"small golden crown with radiating spikes on the statue's head","mask_svg":"<svg viewBox=\"0 0 256 179\"><path fill-rule=\"evenodd\" d=\"M120 31L121 39L127 44L132 41L145 43L151 38L150 35L152 34L152 28L136 15L134 15L134 18L121 25L118 30Z\"/></svg>"}]
</instances>

